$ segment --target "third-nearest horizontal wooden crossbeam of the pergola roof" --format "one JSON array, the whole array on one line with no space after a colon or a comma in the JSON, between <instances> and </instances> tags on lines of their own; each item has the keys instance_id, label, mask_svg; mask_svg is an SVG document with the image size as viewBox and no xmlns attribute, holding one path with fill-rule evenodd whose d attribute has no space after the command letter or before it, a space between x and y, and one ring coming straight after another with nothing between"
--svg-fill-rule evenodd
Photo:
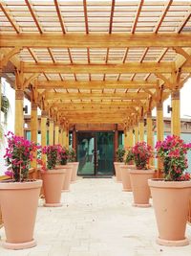
<instances>
[{"instance_id":1,"label":"third-nearest horizontal wooden crossbeam of the pergola roof","mask_svg":"<svg viewBox=\"0 0 191 256\"><path fill-rule=\"evenodd\" d=\"M38 89L152 89L157 81L37 81Z\"/></svg>"}]
</instances>

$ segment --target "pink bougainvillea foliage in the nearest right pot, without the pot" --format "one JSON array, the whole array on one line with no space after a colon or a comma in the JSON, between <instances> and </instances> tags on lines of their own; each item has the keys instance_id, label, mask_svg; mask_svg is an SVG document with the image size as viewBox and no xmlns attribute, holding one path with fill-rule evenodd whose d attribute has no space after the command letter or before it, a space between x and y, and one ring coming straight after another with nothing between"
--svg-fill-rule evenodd
<instances>
[{"instance_id":1,"label":"pink bougainvillea foliage in the nearest right pot, without the pot","mask_svg":"<svg viewBox=\"0 0 191 256\"><path fill-rule=\"evenodd\" d=\"M190 175L184 172L188 168L186 153L191 143L185 144L179 136L167 136L156 144L157 157L163 162L164 179L166 181L189 180Z\"/></svg>"}]
</instances>

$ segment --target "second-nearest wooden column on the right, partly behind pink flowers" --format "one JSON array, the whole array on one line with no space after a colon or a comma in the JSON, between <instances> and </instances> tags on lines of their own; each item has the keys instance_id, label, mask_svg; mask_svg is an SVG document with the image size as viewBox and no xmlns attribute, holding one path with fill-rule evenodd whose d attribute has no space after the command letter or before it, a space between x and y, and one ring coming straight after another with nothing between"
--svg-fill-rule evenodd
<instances>
[{"instance_id":1,"label":"second-nearest wooden column on the right, partly behind pink flowers","mask_svg":"<svg viewBox=\"0 0 191 256\"><path fill-rule=\"evenodd\" d=\"M157 141L162 141L164 135L164 124L163 124L163 105L162 103L157 104ZM162 164L158 159L158 170L159 176L161 176Z\"/></svg>"}]
</instances>

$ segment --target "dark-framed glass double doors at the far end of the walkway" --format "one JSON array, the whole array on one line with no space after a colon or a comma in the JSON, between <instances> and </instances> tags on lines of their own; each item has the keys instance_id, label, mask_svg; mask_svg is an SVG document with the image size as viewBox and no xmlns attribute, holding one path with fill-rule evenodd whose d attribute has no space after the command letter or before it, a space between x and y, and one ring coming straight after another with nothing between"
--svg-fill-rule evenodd
<instances>
[{"instance_id":1,"label":"dark-framed glass double doors at the far end of the walkway","mask_svg":"<svg viewBox=\"0 0 191 256\"><path fill-rule=\"evenodd\" d=\"M76 134L78 175L113 175L114 132L79 131Z\"/></svg>"}]
</instances>

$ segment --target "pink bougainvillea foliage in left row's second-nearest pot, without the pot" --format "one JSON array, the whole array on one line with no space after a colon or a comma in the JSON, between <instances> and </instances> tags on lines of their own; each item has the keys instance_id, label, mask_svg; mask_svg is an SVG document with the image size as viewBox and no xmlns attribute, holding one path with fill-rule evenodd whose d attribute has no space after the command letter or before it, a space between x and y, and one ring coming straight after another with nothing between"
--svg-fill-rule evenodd
<instances>
[{"instance_id":1,"label":"pink bougainvillea foliage in left row's second-nearest pot, without the pot","mask_svg":"<svg viewBox=\"0 0 191 256\"><path fill-rule=\"evenodd\" d=\"M58 145L49 145L42 148L42 153L47 155L47 169L52 170L55 168L55 165L58 160ZM42 168L45 170L45 167Z\"/></svg>"}]
</instances>

